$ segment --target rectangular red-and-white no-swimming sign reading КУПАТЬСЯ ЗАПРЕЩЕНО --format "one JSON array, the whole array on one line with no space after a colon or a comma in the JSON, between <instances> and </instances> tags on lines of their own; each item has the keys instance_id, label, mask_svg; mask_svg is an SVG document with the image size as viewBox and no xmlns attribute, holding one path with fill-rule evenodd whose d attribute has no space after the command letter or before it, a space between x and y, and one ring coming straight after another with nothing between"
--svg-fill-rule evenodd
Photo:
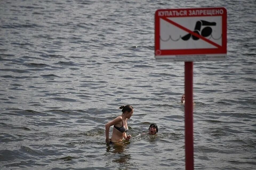
<instances>
[{"instance_id":1,"label":"rectangular red-and-white no-swimming sign reading \u041a\u0423\u041f\u0410\u0422\u042c\u0421\u042f \u0417\u0410\u041f\u0420\u0415\u0429\u0415\u041d\u041e","mask_svg":"<svg viewBox=\"0 0 256 170\"><path fill-rule=\"evenodd\" d=\"M155 12L157 60L221 60L226 54L225 8L160 9Z\"/></svg>"}]
</instances>

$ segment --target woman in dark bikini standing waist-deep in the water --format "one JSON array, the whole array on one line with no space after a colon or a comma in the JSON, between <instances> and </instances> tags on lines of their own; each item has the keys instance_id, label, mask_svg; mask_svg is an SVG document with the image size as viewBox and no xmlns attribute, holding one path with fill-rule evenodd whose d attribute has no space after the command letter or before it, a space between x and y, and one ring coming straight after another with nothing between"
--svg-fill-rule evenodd
<instances>
[{"instance_id":1,"label":"woman in dark bikini standing waist-deep in the water","mask_svg":"<svg viewBox=\"0 0 256 170\"><path fill-rule=\"evenodd\" d=\"M125 140L130 140L131 138L131 135L126 135L126 132L128 131L127 119L130 119L133 115L133 107L131 105L123 105L119 109L122 109L121 116L118 116L105 125L106 143L108 144L122 142L123 138ZM113 125L113 133L111 139L109 139L109 128Z\"/></svg>"}]
</instances>

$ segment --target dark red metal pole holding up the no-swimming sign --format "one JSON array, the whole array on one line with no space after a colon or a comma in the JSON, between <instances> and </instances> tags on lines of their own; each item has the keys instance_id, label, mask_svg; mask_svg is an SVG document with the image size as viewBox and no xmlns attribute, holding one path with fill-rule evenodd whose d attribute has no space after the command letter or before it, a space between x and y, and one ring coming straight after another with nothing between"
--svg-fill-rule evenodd
<instances>
[{"instance_id":1,"label":"dark red metal pole holding up the no-swimming sign","mask_svg":"<svg viewBox=\"0 0 256 170\"><path fill-rule=\"evenodd\" d=\"M185 169L194 170L193 62L185 62Z\"/></svg>"}]
</instances>

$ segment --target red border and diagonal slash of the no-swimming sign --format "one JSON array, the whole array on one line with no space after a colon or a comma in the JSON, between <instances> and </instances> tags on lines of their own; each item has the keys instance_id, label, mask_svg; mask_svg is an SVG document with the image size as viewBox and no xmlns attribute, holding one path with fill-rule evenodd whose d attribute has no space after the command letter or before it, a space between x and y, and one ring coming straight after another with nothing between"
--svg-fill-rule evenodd
<instances>
[{"instance_id":1,"label":"red border and diagonal slash of the no-swimming sign","mask_svg":"<svg viewBox=\"0 0 256 170\"><path fill-rule=\"evenodd\" d=\"M222 46L219 46L217 49L174 49L174 50L160 50L160 18L168 18L158 16L159 11L189 11L189 10L223 10L223 14L215 15L193 15L185 17L195 17L195 16L222 16ZM184 16L175 16L175 17L184 17ZM166 20L165 19L165 20ZM169 20L169 19L167 19ZM169 22L169 21L167 21ZM170 23L170 22L169 22ZM176 23L171 23L176 24ZM185 30L186 31L186 30ZM191 32L190 32L191 33ZM195 33L194 33L195 34ZM195 36L198 37L197 34ZM202 36L199 36L202 39ZM204 37L203 37L204 38ZM186 55L186 54L224 54L227 53L227 10L224 7L215 7L215 8L179 8L179 9L159 9L155 12L155 56L163 55Z\"/></svg>"}]
</instances>

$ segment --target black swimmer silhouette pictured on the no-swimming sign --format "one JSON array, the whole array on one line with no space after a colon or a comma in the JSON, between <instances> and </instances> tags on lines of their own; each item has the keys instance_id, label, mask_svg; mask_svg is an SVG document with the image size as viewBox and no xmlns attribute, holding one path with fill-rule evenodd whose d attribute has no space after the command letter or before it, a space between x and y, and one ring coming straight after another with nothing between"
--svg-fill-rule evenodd
<instances>
[{"instance_id":1,"label":"black swimmer silhouette pictured on the no-swimming sign","mask_svg":"<svg viewBox=\"0 0 256 170\"><path fill-rule=\"evenodd\" d=\"M215 26L216 23L215 22L208 22L208 21L204 21L204 20L197 21L197 23L195 24L195 30L193 32L200 35L202 25L203 26ZM203 37L207 37L207 36L211 35L212 31L213 31L213 29L211 29L211 27L205 27L205 28L202 29L201 35ZM184 40L184 41L187 41L187 40L190 39L190 37L192 37L193 40L198 40L199 39L198 37L196 37L194 35L191 35L190 33L181 37L181 39Z\"/></svg>"}]
</instances>

